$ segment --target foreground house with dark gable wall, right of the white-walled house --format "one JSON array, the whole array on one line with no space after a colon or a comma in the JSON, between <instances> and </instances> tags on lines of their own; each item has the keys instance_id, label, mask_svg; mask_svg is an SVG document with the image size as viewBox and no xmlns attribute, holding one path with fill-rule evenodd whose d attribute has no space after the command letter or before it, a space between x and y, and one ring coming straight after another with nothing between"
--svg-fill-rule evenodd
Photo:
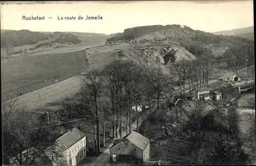
<instances>
[{"instance_id":1,"label":"foreground house with dark gable wall, right of the white-walled house","mask_svg":"<svg viewBox=\"0 0 256 166\"><path fill-rule=\"evenodd\" d=\"M111 160L119 164L145 164L150 158L150 140L136 131L116 139L110 148Z\"/></svg>"}]
</instances>

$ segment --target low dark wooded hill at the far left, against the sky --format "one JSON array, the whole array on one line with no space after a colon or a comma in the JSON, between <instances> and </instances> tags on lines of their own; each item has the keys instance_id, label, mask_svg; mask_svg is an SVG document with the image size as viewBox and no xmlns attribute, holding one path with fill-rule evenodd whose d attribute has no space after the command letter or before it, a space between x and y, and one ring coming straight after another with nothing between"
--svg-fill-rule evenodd
<instances>
[{"instance_id":1,"label":"low dark wooded hill at the far left, against the sky","mask_svg":"<svg viewBox=\"0 0 256 166\"><path fill-rule=\"evenodd\" d=\"M47 39L49 38L46 34L29 30L1 30L1 48L35 44Z\"/></svg>"}]
</instances>

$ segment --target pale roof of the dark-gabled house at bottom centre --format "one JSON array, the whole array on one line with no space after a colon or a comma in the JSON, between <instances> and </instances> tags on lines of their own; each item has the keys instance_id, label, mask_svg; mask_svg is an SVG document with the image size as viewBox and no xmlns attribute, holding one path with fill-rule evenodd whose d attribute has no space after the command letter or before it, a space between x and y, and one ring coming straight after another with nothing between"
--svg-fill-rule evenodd
<instances>
[{"instance_id":1,"label":"pale roof of the dark-gabled house at bottom centre","mask_svg":"<svg viewBox=\"0 0 256 166\"><path fill-rule=\"evenodd\" d=\"M114 141L114 144L111 148L115 147L117 144L122 142L124 139L129 140L132 144L134 144L136 147L138 147L141 150L144 150L148 143L150 143L150 140L148 140L145 136L141 135L140 133L136 131L132 131L131 133L125 135L122 139L117 139ZM110 149L111 149L110 148Z\"/></svg>"}]
</instances>

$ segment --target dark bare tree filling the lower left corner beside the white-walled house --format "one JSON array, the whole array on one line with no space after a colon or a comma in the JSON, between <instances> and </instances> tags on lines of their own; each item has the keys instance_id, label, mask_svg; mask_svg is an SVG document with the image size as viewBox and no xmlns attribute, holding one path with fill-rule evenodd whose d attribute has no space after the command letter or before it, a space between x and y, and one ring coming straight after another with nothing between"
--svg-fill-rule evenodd
<instances>
[{"instance_id":1,"label":"dark bare tree filling the lower left corner beside the white-walled house","mask_svg":"<svg viewBox=\"0 0 256 166\"><path fill-rule=\"evenodd\" d=\"M3 164L51 164L52 160L45 155L45 149L51 148L49 132L31 130L38 126L35 119L32 112L15 106L15 102L2 104Z\"/></svg>"}]
</instances>

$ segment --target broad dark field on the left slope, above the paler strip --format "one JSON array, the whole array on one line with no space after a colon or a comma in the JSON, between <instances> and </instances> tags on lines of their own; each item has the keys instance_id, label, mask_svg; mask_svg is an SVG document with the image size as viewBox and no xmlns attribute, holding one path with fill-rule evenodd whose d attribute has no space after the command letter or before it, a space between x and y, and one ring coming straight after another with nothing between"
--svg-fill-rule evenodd
<instances>
[{"instance_id":1,"label":"broad dark field on the left slope, above the paler strip","mask_svg":"<svg viewBox=\"0 0 256 166\"><path fill-rule=\"evenodd\" d=\"M23 56L1 61L2 97L8 100L86 71L81 51Z\"/></svg>"}]
</instances>

